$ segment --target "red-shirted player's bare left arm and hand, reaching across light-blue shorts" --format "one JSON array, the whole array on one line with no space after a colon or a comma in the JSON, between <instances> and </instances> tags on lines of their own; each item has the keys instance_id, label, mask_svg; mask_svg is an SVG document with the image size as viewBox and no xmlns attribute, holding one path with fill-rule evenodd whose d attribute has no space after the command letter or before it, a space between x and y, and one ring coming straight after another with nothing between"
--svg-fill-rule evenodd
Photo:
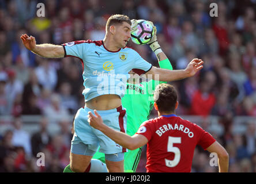
<instances>
[{"instance_id":1,"label":"red-shirted player's bare left arm and hand, reaching across light-blue shorts","mask_svg":"<svg viewBox=\"0 0 256 184\"><path fill-rule=\"evenodd\" d=\"M146 143L148 143L148 139L146 139L143 135L129 136L126 133L115 131L114 129L108 127L103 124L103 120L101 116L97 113L97 110L94 110L96 116L92 114L92 112L88 112L88 122L93 127L103 132L106 136L110 137L110 139L114 140L116 143L125 147L129 150L135 150L137 148L142 147Z\"/></svg>"}]
</instances>

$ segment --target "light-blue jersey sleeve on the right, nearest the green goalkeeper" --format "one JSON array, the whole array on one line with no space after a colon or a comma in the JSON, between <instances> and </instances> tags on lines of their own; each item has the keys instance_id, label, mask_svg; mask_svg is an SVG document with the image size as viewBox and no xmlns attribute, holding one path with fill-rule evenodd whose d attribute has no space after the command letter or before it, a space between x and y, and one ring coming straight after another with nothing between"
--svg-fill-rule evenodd
<instances>
[{"instance_id":1,"label":"light-blue jersey sleeve on the right, nearest the green goalkeeper","mask_svg":"<svg viewBox=\"0 0 256 184\"><path fill-rule=\"evenodd\" d=\"M145 74L153 67L151 63L146 62L138 52L134 51L134 68L133 71L138 75Z\"/></svg>"}]
</instances>

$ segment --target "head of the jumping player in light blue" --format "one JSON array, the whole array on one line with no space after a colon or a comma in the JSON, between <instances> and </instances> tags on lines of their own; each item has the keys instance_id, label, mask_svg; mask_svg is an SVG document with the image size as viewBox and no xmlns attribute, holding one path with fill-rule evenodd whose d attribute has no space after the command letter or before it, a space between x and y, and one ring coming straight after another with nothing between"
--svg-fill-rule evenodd
<instances>
[{"instance_id":1,"label":"head of the jumping player in light blue","mask_svg":"<svg viewBox=\"0 0 256 184\"><path fill-rule=\"evenodd\" d=\"M131 20L128 16L115 14L108 18L106 34L111 36L118 47L126 47L131 37Z\"/></svg>"}]
</instances>

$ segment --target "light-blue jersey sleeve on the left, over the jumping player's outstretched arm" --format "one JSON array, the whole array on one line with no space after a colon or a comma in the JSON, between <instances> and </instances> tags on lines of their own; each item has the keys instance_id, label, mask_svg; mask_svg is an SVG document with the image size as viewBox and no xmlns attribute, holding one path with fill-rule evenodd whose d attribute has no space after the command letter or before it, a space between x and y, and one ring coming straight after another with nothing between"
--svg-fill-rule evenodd
<instances>
[{"instance_id":1,"label":"light-blue jersey sleeve on the left, over the jumping player's outstretched arm","mask_svg":"<svg viewBox=\"0 0 256 184\"><path fill-rule=\"evenodd\" d=\"M62 44L65 51L65 57L73 56L82 59L84 57L84 53L86 53L86 44L84 43L86 43L86 41L80 40Z\"/></svg>"}]
</instances>

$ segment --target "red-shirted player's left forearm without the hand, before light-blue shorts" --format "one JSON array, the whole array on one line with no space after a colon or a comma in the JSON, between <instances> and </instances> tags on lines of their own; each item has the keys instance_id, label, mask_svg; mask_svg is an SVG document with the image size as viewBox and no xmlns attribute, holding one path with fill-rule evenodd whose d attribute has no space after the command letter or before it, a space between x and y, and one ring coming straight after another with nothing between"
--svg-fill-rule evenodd
<instances>
[{"instance_id":1,"label":"red-shirted player's left forearm without the hand, before light-blue shorts","mask_svg":"<svg viewBox=\"0 0 256 184\"><path fill-rule=\"evenodd\" d=\"M99 131L103 132L106 136L110 137L110 139L114 140L116 143L129 150L135 150L139 148L134 147L133 137L127 135L126 133L115 131L105 124L99 128Z\"/></svg>"}]
</instances>

